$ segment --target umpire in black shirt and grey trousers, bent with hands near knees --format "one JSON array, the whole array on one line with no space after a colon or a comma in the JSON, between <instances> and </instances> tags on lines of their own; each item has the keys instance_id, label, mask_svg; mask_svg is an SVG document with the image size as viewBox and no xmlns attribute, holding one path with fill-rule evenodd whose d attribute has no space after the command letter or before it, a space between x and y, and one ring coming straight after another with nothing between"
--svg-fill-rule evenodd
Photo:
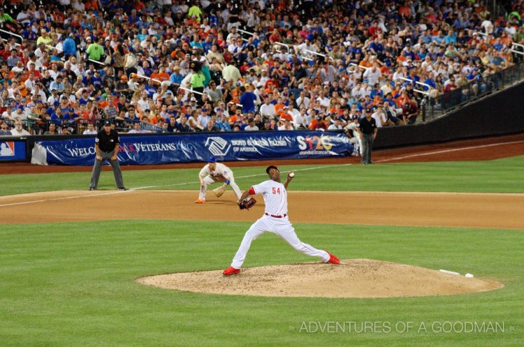
<instances>
[{"instance_id":1,"label":"umpire in black shirt and grey trousers, bent with hands near knees","mask_svg":"<svg viewBox=\"0 0 524 347\"><path fill-rule=\"evenodd\" d=\"M106 120L103 124L103 129L96 135L96 140L94 142L96 158L94 159L91 184L89 184L90 191L94 191L99 185L100 168L103 161L106 159L111 164L112 173L115 175L115 182L117 182L118 190L127 190L126 187L124 187L124 182L122 182L122 170L120 170L117 158L119 143L120 141L117 131L112 129L111 122Z\"/></svg>"}]
</instances>

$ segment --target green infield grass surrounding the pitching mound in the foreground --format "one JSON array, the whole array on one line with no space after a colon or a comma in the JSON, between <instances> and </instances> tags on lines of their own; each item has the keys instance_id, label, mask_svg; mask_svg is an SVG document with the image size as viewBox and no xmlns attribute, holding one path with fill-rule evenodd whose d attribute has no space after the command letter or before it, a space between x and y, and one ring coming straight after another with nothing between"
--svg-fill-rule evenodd
<instances>
[{"instance_id":1,"label":"green infield grass surrounding the pitching mound in the foreground","mask_svg":"<svg viewBox=\"0 0 524 347\"><path fill-rule=\"evenodd\" d=\"M150 274L222 269L248 227L143 220L3 226L0 346L522 346L524 244L518 230L296 224L305 242L341 258L471 272L505 285L472 295L221 296L133 281ZM275 235L263 235L245 266L311 260ZM308 333L300 331L303 321L308 326L310 321L387 322L392 332ZM505 332L395 332L397 323L408 321L416 327L491 321L504 323Z\"/></svg>"}]
</instances>

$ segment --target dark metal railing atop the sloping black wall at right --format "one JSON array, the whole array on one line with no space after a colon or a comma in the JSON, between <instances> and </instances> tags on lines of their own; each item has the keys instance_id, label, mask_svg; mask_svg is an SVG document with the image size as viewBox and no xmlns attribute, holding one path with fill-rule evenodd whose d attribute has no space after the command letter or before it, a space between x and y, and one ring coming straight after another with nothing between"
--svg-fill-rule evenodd
<instances>
[{"instance_id":1,"label":"dark metal railing atop the sloping black wall at right","mask_svg":"<svg viewBox=\"0 0 524 347\"><path fill-rule=\"evenodd\" d=\"M429 98L428 102L424 105L425 112L427 112L428 117L438 117L453 108L465 105L465 103L491 94L494 91L509 87L523 79L524 61L520 61L518 64L505 68L502 71L497 71L492 75L486 77L479 76L476 80L472 80L436 98Z\"/></svg>"}]
</instances>

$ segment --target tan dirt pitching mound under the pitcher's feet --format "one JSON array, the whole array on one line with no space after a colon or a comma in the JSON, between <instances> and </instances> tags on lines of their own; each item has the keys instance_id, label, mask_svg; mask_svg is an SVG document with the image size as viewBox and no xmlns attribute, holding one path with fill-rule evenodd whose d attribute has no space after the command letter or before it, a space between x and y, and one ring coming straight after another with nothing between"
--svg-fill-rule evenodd
<instances>
[{"instance_id":1,"label":"tan dirt pitching mound under the pitcher's feet","mask_svg":"<svg viewBox=\"0 0 524 347\"><path fill-rule=\"evenodd\" d=\"M267 297L419 297L478 293L502 288L486 279L467 279L436 270L371 259L340 265L303 263L253 267L241 274L182 272L137 279L148 286L195 293Z\"/></svg>"}]
</instances>

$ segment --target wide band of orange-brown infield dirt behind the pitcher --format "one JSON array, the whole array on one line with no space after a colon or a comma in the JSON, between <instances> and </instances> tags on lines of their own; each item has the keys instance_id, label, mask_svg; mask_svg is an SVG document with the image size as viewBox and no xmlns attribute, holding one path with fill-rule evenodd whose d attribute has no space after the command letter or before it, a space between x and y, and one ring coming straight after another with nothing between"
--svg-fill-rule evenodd
<instances>
[{"instance_id":1,"label":"wide band of orange-brown infield dirt behind the pitcher","mask_svg":"<svg viewBox=\"0 0 524 347\"><path fill-rule=\"evenodd\" d=\"M254 222L263 198L240 211L232 191L52 191L0 197L0 223L115 219ZM524 194L289 191L291 223L524 229ZM353 212L353 213L351 213ZM358 213L357 213L358 212ZM496 216L496 218L495 218ZM298 230L300 232L300 230Z\"/></svg>"}]
</instances>

